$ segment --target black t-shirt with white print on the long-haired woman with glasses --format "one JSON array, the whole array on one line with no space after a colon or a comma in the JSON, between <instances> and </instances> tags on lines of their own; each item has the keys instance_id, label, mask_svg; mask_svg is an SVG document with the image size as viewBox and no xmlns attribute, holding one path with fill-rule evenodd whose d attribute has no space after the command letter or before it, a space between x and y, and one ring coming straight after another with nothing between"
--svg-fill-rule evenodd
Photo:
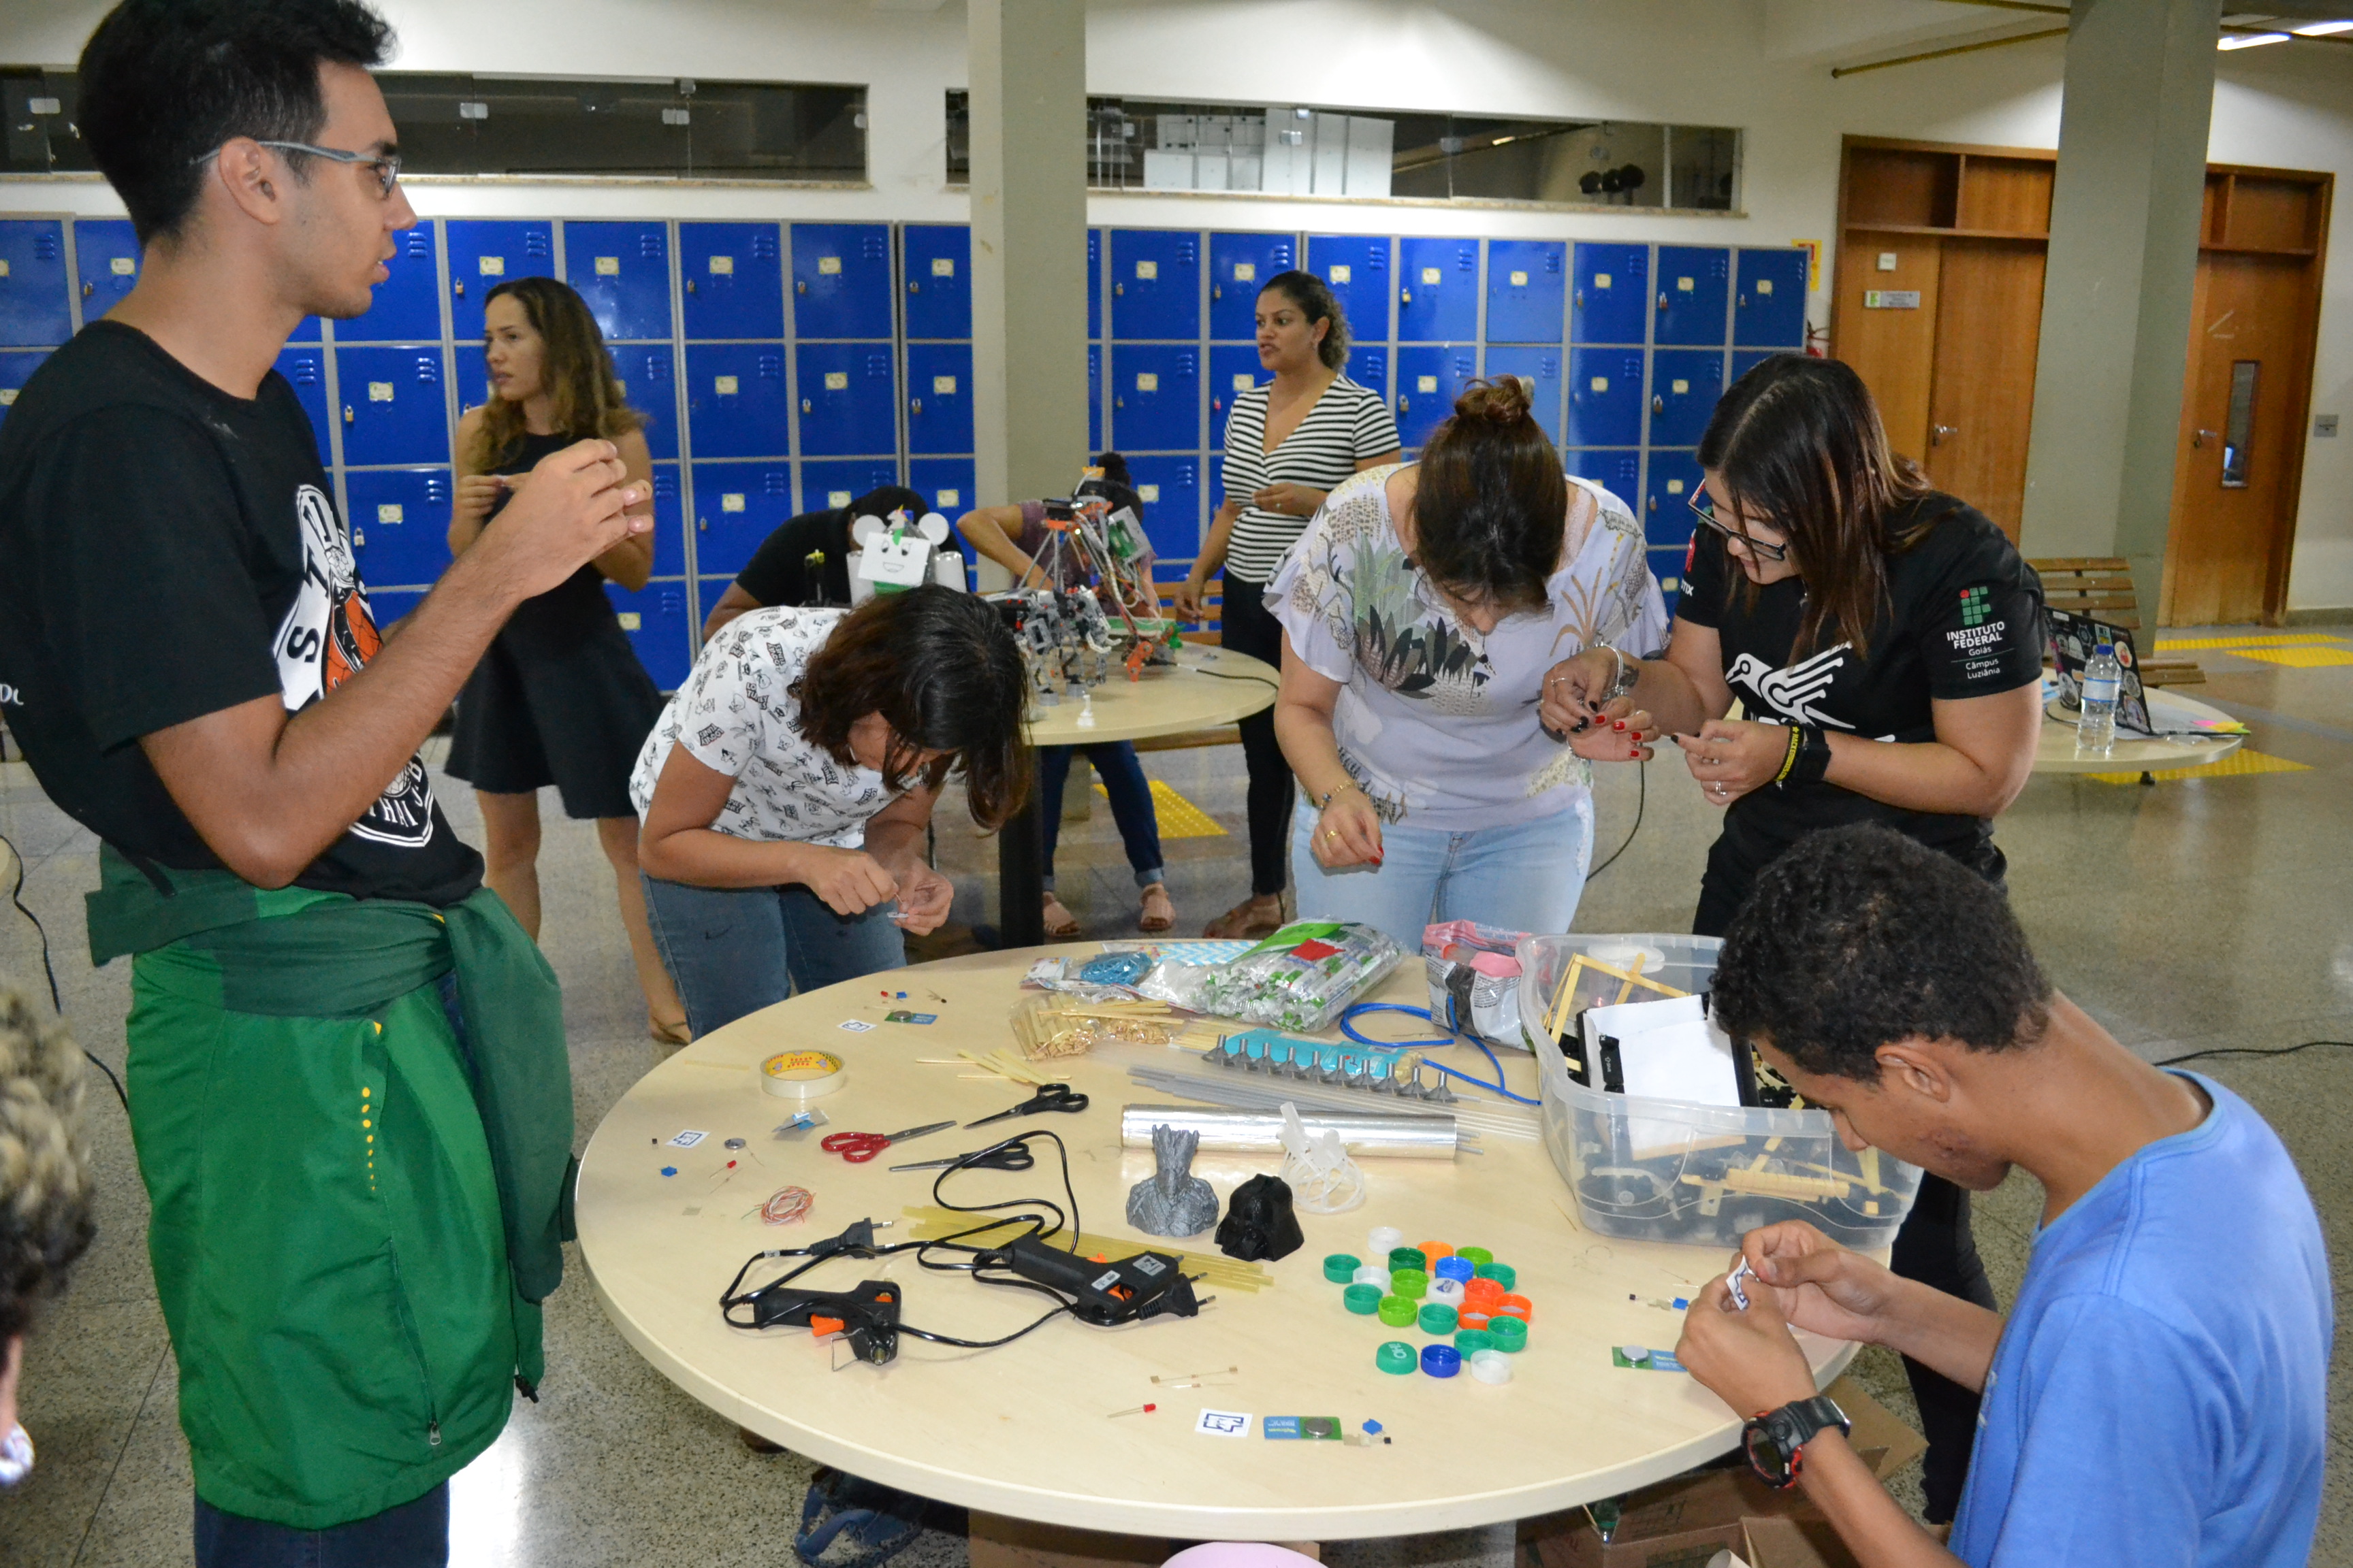
<instances>
[{"instance_id":1,"label":"black t-shirt with white print on the long-haired woman with glasses","mask_svg":"<svg viewBox=\"0 0 2353 1568\"><path fill-rule=\"evenodd\" d=\"M1751 719L1819 724L1866 741L1937 738L1932 701L2017 691L2042 679L2042 581L1991 517L1944 494L1897 512L1901 536L1934 517L1920 541L1887 557L1887 607L1868 658L1835 628L1791 658L1805 616L1805 581L1755 588L1725 543L1701 529L1678 616L1713 625L1725 679ZM1981 816L1906 811L1833 783L1767 785L1732 802L1725 837L1762 867L1817 827L1885 823L1981 872L2000 872L1993 823Z\"/></svg>"}]
</instances>

